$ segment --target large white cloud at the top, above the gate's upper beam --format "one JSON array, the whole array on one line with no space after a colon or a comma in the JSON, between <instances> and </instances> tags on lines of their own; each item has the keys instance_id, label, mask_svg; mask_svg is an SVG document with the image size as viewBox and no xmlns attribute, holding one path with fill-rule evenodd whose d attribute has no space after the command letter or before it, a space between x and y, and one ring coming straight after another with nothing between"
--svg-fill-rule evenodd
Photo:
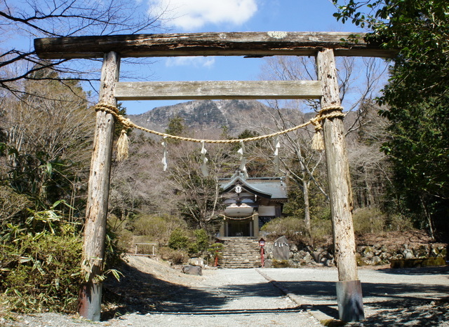
<instances>
[{"instance_id":1,"label":"large white cloud at the top, above the gate's upper beam","mask_svg":"<svg viewBox=\"0 0 449 327\"><path fill-rule=\"evenodd\" d=\"M169 25L192 31L206 24L241 25L257 11L257 0L149 0ZM161 14L162 13L162 14Z\"/></svg>"}]
</instances>

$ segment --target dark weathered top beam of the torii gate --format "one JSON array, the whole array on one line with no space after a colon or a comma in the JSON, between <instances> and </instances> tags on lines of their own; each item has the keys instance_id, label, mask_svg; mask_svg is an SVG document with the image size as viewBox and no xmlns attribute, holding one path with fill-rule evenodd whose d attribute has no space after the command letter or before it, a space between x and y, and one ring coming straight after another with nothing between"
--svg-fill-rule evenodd
<instances>
[{"instance_id":1,"label":"dark weathered top beam of the torii gate","mask_svg":"<svg viewBox=\"0 0 449 327\"><path fill-rule=\"evenodd\" d=\"M111 51L121 57L316 55L323 48L333 49L336 56L394 57L394 50L369 43L365 36L348 32L69 36L34 39L34 48L41 59L98 58Z\"/></svg>"}]
</instances>

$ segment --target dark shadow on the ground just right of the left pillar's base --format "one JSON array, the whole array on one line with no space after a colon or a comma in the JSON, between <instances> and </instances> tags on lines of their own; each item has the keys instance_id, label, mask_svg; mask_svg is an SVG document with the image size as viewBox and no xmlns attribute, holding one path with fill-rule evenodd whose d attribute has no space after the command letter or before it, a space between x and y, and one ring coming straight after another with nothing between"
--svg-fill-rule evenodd
<instances>
[{"instance_id":1,"label":"dark shadow on the ground just right of the left pillar's base","mask_svg":"<svg viewBox=\"0 0 449 327\"><path fill-rule=\"evenodd\" d=\"M239 314L267 313L272 309L249 310L223 308L228 302L241 297L276 298L283 293L272 284L225 285L220 288L192 288L173 284L141 272L123 263L119 270L123 273L120 281L109 278L104 284L104 301L114 303L103 309L102 320L112 319L125 313L163 313L163 314ZM269 306L267 306L269 307ZM277 309L273 309L277 310ZM283 310L283 309L279 309ZM285 309L286 312L295 309ZM280 311L282 312L282 311Z\"/></svg>"}]
</instances>

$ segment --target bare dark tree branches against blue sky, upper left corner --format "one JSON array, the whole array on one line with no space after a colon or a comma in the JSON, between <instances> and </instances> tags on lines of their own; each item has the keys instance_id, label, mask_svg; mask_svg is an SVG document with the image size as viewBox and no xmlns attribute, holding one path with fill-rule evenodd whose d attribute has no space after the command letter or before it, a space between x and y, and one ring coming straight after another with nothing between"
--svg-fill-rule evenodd
<instances>
[{"instance_id":1,"label":"bare dark tree branches against blue sky, upper left corner","mask_svg":"<svg viewBox=\"0 0 449 327\"><path fill-rule=\"evenodd\" d=\"M0 30L4 41L0 50L0 88L24 92L14 82L67 78L62 74L85 81L98 79L88 74L86 61L81 69L67 60L42 62L34 53L34 38L135 34L158 27L158 17L152 16L138 1L1 0ZM48 68L59 75L36 74Z\"/></svg>"}]
</instances>

